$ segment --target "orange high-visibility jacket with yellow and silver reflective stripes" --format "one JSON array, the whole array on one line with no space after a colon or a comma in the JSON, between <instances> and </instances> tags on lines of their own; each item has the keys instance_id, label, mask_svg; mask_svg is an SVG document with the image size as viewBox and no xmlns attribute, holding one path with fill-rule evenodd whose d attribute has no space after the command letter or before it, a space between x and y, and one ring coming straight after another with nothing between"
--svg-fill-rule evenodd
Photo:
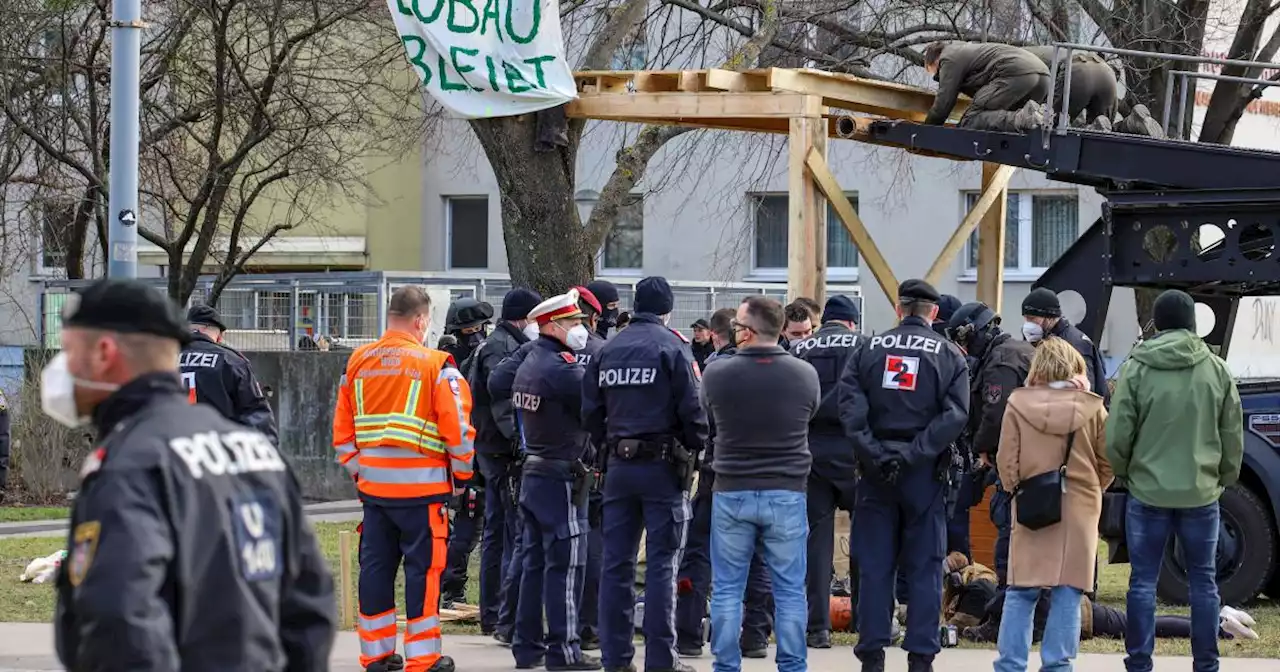
<instances>
[{"instance_id":1,"label":"orange high-visibility jacket with yellow and silver reflective stripes","mask_svg":"<svg viewBox=\"0 0 1280 672\"><path fill-rule=\"evenodd\" d=\"M403 332L347 360L333 419L338 463L362 495L443 499L471 479L471 389L453 358Z\"/></svg>"}]
</instances>

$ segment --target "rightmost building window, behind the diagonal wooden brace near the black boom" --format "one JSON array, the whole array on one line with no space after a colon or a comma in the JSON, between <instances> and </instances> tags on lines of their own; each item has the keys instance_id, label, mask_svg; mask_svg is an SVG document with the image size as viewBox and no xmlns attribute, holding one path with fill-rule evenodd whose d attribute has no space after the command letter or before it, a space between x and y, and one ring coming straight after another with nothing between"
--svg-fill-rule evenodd
<instances>
[{"instance_id":1,"label":"rightmost building window, behind the diagonal wooden brace near the black boom","mask_svg":"<svg viewBox=\"0 0 1280 672\"><path fill-rule=\"evenodd\" d=\"M965 193L965 214L978 193ZM961 215L964 216L964 215ZM1009 192L1005 218L1005 269L1041 273L1079 236L1079 197L1075 193ZM978 268L978 232L969 237L966 268Z\"/></svg>"}]
</instances>

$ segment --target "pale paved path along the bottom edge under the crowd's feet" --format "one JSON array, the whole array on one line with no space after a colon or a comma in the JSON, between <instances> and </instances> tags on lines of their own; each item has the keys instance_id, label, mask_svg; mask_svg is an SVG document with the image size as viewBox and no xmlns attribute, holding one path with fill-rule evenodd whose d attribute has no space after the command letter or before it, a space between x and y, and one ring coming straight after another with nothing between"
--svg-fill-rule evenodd
<instances>
[{"instance_id":1,"label":"pale paved path along the bottom edge under the crowd's feet","mask_svg":"<svg viewBox=\"0 0 1280 672\"><path fill-rule=\"evenodd\" d=\"M356 663L360 644L355 632L342 632L333 653L333 672L360 672ZM489 637L447 636L444 650L458 663L461 672L507 672L515 669L511 652L498 646ZM643 646L637 648L636 660L643 660ZM942 652L934 662L938 672L989 672L995 652L955 649ZM710 655L686 658L686 663L699 672L709 672ZM1032 660L1032 669L1039 666ZM1222 659L1222 672L1275 672L1276 660L1266 659ZM809 650L809 668L814 672L850 672L858 669L854 654L847 648L828 650ZM1161 658L1156 660L1156 672L1187 672L1192 668L1189 658ZM54 672L60 671L54 655L52 628L46 623L0 623L0 672ZM776 669L773 657L764 660L744 660L745 672L765 672ZM906 657L901 650L890 652L887 672L905 672ZM1119 655L1084 655L1076 663L1076 669L1124 671Z\"/></svg>"}]
</instances>

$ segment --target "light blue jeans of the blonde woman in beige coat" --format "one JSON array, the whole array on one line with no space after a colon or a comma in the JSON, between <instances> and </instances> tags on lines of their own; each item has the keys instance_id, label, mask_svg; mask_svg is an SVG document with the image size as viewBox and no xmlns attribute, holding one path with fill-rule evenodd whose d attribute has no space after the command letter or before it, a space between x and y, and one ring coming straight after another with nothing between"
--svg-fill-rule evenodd
<instances>
[{"instance_id":1,"label":"light blue jeans of the blonde woman in beige coat","mask_svg":"<svg viewBox=\"0 0 1280 672\"><path fill-rule=\"evenodd\" d=\"M1032 649L1038 588L1012 588L1005 591L1005 612L1000 621L1000 658L996 672L1025 672ZM1048 621L1041 643L1042 672L1070 672L1080 649L1080 595L1073 586L1051 589Z\"/></svg>"}]
</instances>

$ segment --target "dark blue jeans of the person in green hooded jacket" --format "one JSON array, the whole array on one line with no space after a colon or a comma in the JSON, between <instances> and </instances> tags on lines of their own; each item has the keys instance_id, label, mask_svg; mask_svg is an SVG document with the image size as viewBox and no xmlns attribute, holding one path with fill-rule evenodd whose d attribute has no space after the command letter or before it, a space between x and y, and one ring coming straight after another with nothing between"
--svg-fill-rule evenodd
<instances>
[{"instance_id":1,"label":"dark blue jeans of the person in green hooded jacket","mask_svg":"<svg viewBox=\"0 0 1280 672\"><path fill-rule=\"evenodd\" d=\"M1125 627L1124 666L1129 672L1151 672L1156 646L1156 579L1170 534L1176 535L1187 566L1192 603L1192 658L1194 672L1217 672L1217 502L1199 508L1160 508L1129 497L1125 541L1129 545L1129 623Z\"/></svg>"}]
</instances>

